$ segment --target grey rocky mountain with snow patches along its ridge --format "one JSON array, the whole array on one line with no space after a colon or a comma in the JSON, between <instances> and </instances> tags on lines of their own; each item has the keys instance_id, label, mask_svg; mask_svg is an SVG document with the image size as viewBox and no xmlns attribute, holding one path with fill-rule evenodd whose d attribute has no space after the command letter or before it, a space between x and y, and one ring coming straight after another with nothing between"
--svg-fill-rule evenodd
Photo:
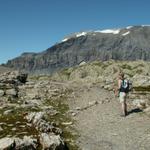
<instances>
[{"instance_id":1,"label":"grey rocky mountain with snow patches along its ridge","mask_svg":"<svg viewBox=\"0 0 150 150\"><path fill-rule=\"evenodd\" d=\"M82 61L150 60L150 26L79 32L41 53L23 53L5 65L30 72L53 72Z\"/></svg>"}]
</instances>

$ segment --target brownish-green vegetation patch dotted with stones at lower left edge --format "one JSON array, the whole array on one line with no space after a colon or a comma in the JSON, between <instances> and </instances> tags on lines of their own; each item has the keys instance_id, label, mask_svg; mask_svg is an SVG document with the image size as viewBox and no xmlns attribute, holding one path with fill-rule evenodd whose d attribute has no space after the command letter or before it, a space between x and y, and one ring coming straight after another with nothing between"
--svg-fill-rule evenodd
<instances>
[{"instance_id":1,"label":"brownish-green vegetation patch dotted with stones at lower left edge","mask_svg":"<svg viewBox=\"0 0 150 150\"><path fill-rule=\"evenodd\" d=\"M4 112L4 111L3 111ZM1 111L0 123L2 130L0 131L0 138L17 136L23 138L25 135L38 136L37 130L27 124L21 110L14 110L6 115Z\"/></svg>"}]
</instances>

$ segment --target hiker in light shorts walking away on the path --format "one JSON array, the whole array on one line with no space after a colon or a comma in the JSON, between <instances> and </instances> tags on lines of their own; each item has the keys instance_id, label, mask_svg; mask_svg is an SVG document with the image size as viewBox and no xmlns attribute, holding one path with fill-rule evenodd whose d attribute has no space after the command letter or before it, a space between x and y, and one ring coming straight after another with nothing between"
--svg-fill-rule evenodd
<instances>
[{"instance_id":1,"label":"hiker in light shorts walking away on the path","mask_svg":"<svg viewBox=\"0 0 150 150\"><path fill-rule=\"evenodd\" d=\"M120 72L118 76L118 86L115 92L116 96L119 96L119 101L121 103L122 107L122 115L121 116L127 116L127 104L126 104L126 98L128 93L128 81L124 78L124 73Z\"/></svg>"}]
</instances>

